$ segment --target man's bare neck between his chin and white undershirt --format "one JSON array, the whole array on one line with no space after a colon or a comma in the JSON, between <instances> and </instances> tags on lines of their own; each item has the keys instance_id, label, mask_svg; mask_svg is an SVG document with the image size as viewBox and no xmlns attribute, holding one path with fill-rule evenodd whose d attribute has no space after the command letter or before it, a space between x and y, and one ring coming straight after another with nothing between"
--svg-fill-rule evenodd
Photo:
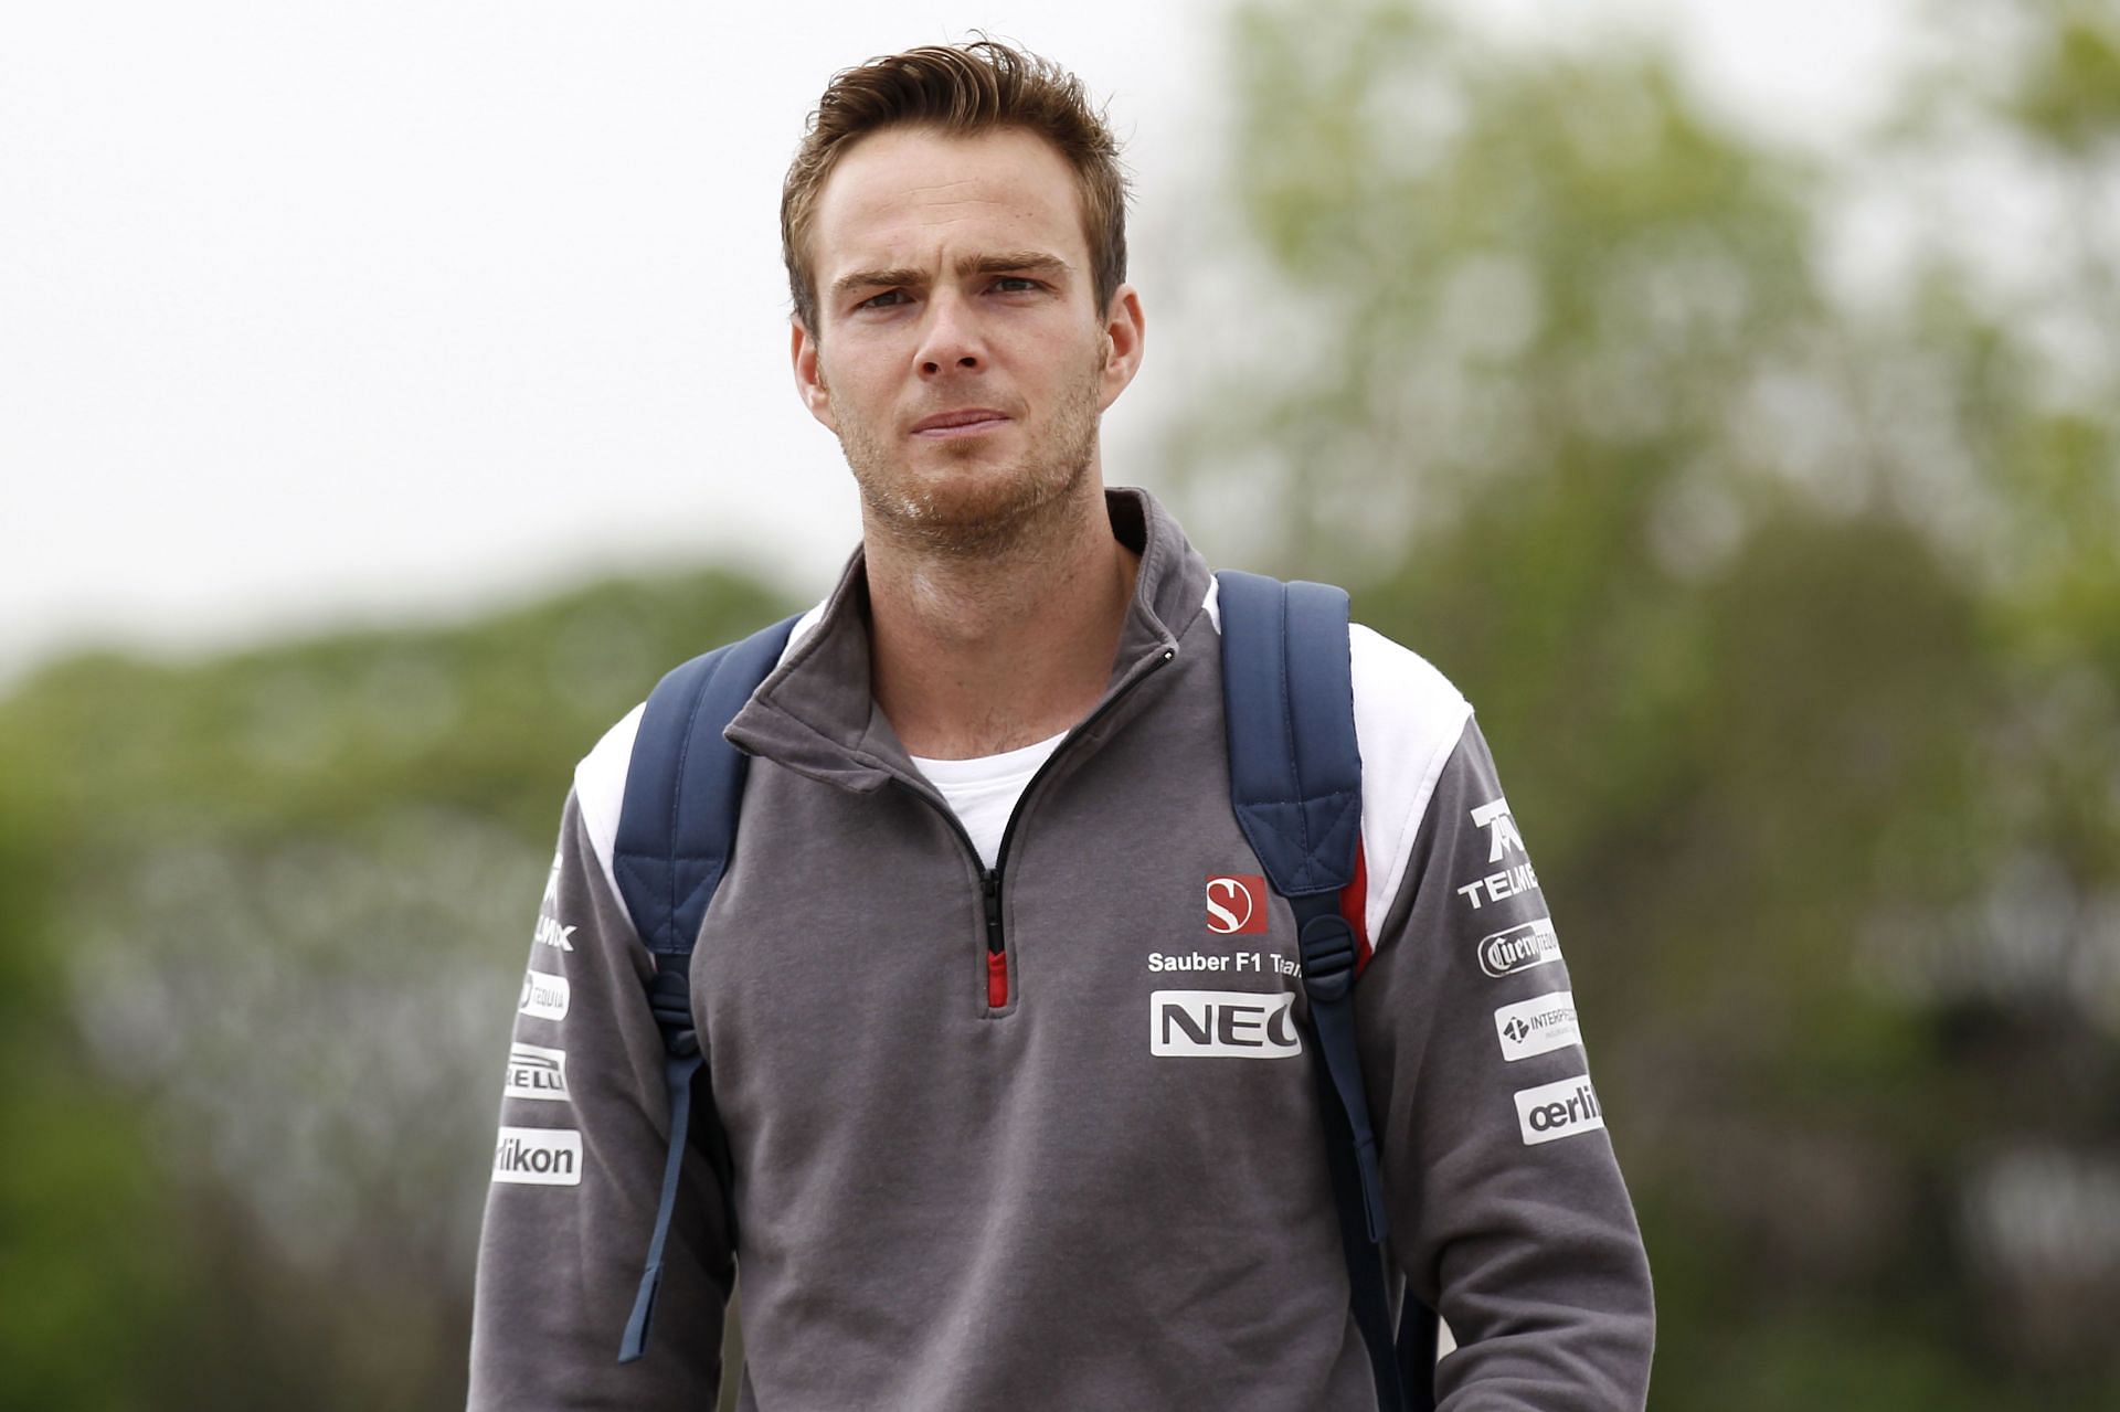
<instances>
[{"instance_id":1,"label":"man's bare neck between his chin and white undershirt","mask_svg":"<svg viewBox=\"0 0 2120 1412\"><path fill-rule=\"evenodd\" d=\"M1111 681L1138 555L1102 477L950 553L865 522L871 689L912 755L971 759L1058 736Z\"/></svg>"}]
</instances>

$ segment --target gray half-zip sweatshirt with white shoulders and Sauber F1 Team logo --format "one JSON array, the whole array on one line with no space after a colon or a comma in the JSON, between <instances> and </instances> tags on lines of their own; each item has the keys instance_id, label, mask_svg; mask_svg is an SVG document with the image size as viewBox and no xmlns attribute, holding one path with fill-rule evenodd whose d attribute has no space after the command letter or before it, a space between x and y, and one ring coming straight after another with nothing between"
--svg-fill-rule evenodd
<instances>
[{"instance_id":1,"label":"gray half-zip sweatshirt with white shoulders and Sauber F1 Team logo","mask_svg":"<svg viewBox=\"0 0 2120 1412\"><path fill-rule=\"evenodd\" d=\"M1111 685L984 869L869 695L856 553L729 727L755 755L691 1005L697 1153L619 1365L666 1153L653 963L611 876L638 710L575 774L517 1001L471 1408L1374 1408L1293 918L1230 810L1213 577L1141 492ZM1446 1412L1641 1408L1649 1270L1524 831L1471 708L1353 634L1357 986L1397 1276ZM999 1001L999 1003L996 1003ZM695 1105L697 1111L697 1105ZM731 1232L734 1217L734 1232Z\"/></svg>"}]
</instances>

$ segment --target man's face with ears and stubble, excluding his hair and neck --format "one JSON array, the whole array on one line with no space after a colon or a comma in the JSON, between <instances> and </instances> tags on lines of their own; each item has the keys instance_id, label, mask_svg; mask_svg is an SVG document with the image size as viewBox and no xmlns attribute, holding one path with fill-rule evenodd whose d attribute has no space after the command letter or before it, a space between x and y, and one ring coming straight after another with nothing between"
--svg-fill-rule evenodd
<instances>
[{"instance_id":1,"label":"man's face with ears and stubble, excluding his hair and neck","mask_svg":"<svg viewBox=\"0 0 2120 1412\"><path fill-rule=\"evenodd\" d=\"M810 269L795 384L871 528L977 553L1098 473L1141 303L1096 307L1075 176L1043 138L863 138L818 193Z\"/></svg>"}]
</instances>

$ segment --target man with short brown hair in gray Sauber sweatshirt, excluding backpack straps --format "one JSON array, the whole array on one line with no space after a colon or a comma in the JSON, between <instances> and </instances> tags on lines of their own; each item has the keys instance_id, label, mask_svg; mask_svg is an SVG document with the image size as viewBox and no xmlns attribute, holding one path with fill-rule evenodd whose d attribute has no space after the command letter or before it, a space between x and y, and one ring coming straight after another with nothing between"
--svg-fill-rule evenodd
<instances>
[{"instance_id":1,"label":"man with short brown hair in gray Sauber sweatshirt, excluding backpack straps","mask_svg":"<svg viewBox=\"0 0 2120 1412\"><path fill-rule=\"evenodd\" d=\"M1001 45L876 59L782 233L863 543L727 731L755 759L689 984L731 1177L687 1153L619 1365L670 1130L611 865L634 712L532 946L471 1404L706 1406L740 1266L744 1406L1374 1408L1314 1056L1143 1043L1158 994L1304 996L1230 810L1213 577L1102 486L1143 354L1111 136ZM1639 1408L1647 1264L1522 833L1463 698L1350 651L1361 1064L1395 1278L1459 1340L1442 1406Z\"/></svg>"}]
</instances>

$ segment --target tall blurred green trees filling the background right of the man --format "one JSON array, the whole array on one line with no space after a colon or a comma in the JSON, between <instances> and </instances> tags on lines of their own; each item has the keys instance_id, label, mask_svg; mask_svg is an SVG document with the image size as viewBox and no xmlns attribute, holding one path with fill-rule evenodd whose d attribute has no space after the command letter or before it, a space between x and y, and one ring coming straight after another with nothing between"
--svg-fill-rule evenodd
<instances>
[{"instance_id":1,"label":"tall blurred green trees filling the background right of the man","mask_svg":"<svg viewBox=\"0 0 2120 1412\"><path fill-rule=\"evenodd\" d=\"M2120 19L1948 11L1817 153L1632 40L1253 4L1187 246L1187 517L1478 704L1658 1406L2120 1406Z\"/></svg>"}]
</instances>

